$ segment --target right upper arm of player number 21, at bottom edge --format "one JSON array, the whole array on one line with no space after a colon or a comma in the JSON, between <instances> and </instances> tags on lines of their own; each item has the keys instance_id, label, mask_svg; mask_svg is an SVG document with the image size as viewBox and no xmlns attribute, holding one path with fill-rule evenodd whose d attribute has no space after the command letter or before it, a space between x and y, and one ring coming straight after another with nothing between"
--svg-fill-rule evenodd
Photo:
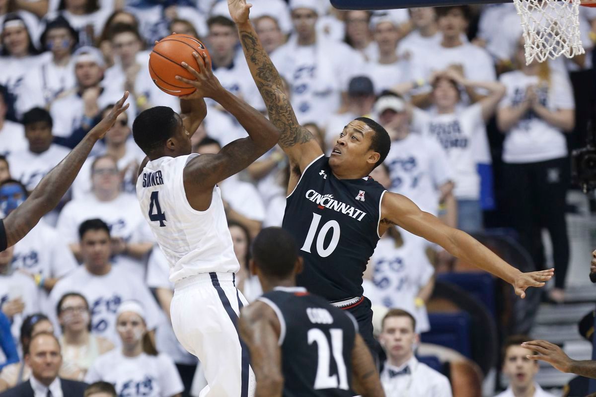
<instances>
[{"instance_id":1,"label":"right upper arm of player number 21, at bottom edge","mask_svg":"<svg viewBox=\"0 0 596 397\"><path fill-rule=\"evenodd\" d=\"M352 379L352 389L363 397L384 397L373 356L359 333L352 349Z\"/></svg>"}]
</instances>

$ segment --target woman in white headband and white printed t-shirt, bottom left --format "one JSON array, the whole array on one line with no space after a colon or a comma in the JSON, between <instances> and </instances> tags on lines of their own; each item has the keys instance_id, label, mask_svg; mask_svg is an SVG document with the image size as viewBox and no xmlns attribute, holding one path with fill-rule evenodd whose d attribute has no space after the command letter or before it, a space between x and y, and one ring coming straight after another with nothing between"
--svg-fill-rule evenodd
<instances>
[{"instance_id":1,"label":"woman in white headband and white printed t-shirt, bottom left","mask_svg":"<svg viewBox=\"0 0 596 397\"><path fill-rule=\"evenodd\" d=\"M116 315L122 348L95 360L86 382L109 382L120 396L180 396L182 380L172 359L159 354L151 343L143 307L136 301L124 301Z\"/></svg>"}]
</instances>

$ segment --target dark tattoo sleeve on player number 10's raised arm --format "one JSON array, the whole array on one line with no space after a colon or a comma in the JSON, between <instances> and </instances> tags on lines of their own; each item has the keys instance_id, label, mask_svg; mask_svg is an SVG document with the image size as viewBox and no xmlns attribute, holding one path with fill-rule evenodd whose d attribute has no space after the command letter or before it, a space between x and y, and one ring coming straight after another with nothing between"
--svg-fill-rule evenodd
<instances>
[{"instance_id":1,"label":"dark tattoo sleeve on player number 10's raised arm","mask_svg":"<svg viewBox=\"0 0 596 397\"><path fill-rule=\"evenodd\" d=\"M252 32L241 31L240 41L246 51L254 82L265 101L269 119L280 132L280 146L287 148L313 139L311 132L300 126L285 94L284 83L269 55Z\"/></svg>"}]
</instances>

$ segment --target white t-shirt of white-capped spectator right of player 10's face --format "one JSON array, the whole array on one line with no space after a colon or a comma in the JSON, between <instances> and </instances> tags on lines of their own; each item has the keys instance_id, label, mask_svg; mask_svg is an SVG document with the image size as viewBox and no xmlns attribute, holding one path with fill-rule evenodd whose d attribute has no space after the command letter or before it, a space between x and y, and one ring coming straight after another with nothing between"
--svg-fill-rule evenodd
<instances>
[{"instance_id":1,"label":"white t-shirt of white-capped spectator right of player 10's face","mask_svg":"<svg viewBox=\"0 0 596 397\"><path fill-rule=\"evenodd\" d=\"M453 180L447 155L436 140L409 133L393 140L385 160L392 180L391 191L414 201L421 210L437 215L439 187Z\"/></svg>"}]
</instances>

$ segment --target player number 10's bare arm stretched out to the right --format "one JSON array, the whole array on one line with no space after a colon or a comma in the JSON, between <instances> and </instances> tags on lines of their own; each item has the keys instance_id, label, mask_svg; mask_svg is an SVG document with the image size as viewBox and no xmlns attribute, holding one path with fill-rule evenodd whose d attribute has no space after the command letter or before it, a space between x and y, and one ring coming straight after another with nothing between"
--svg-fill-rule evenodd
<instances>
[{"instance_id":1,"label":"player number 10's bare arm stretched out to the right","mask_svg":"<svg viewBox=\"0 0 596 397\"><path fill-rule=\"evenodd\" d=\"M554 274L554 269L522 273L474 237L446 226L439 218L421 211L410 199L396 193L387 192L383 195L381 218L380 232L384 232L392 224L403 227L410 233L439 244L454 257L470 262L505 280L522 298L526 296L527 287L542 287Z\"/></svg>"}]
</instances>

